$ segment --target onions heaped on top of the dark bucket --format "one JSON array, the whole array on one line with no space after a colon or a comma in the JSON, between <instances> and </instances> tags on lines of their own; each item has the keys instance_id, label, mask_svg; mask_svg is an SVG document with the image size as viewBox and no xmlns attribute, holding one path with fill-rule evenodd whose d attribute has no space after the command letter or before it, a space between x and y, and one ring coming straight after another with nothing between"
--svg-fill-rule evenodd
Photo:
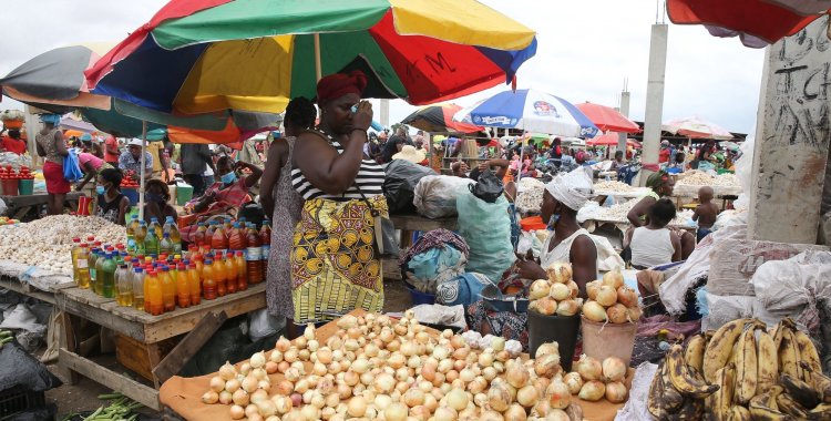
<instances>
[{"instance_id":1,"label":"onions heaped on top of the dark bucket","mask_svg":"<svg viewBox=\"0 0 831 421\"><path fill-rule=\"evenodd\" d=\"M554 263L545 271L548 279L531 284L529 310L543 316L574 316L579 312L583 300L577 298L579 288L572 279L572 265Z\"/></svg>"}]
</instances>

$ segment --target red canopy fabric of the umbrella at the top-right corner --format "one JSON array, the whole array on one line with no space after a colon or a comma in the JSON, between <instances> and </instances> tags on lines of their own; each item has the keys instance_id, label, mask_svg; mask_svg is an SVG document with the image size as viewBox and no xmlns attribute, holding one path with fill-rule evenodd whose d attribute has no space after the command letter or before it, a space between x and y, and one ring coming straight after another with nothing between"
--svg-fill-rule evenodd
<instances>
[{"instance_id":1,"label":"red canopy fabric of the umbrella at the top-right corner","mask_svg":"<svg viewBox=\"0 0 831 421\"><path fill-rule=\"evenodd\" d=\"M745 32L774 43L799 32L821 14L803 17L766 0L668 0L669 20Z\"/></svg>"}]
</instances>

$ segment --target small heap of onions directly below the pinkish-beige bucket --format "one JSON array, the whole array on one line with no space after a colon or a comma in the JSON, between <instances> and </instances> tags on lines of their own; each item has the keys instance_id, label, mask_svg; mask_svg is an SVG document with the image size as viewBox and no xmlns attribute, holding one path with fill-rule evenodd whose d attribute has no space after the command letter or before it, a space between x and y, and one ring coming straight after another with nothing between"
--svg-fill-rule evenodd
<instances>
[{"instance_id":1,"label":"small heap of onions directly below the pinkish-beige bucket","mask_svg":"<svg viewBox=\"0 0 831 421\"><path fill-rule=\"evenodd\" d=\"M626 401L628 390L624 380L628 368L619 358L608 357L601 362L584 353L574 367L577 371L564 376L572 394L592 402L604 397L612 403Z\"/></svg>"}]
</instances>

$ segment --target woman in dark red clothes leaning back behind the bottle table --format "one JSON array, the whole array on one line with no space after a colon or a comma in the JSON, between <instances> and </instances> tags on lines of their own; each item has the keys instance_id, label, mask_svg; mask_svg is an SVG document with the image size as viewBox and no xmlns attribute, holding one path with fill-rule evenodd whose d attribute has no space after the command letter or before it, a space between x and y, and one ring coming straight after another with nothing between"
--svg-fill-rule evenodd
<instances>
[{"instance_id":1,"label":"woman in dark red clothes leaning back behind the bottle table","mask_svg":"<svg viewBox=\"0 0 831 421\"><path fill-rule=\"evenodd\" d=\"M238 178L236 171L247 168L250 174ZM214 183L205 193L185 205L186 215L179 217L179 230L185 242L193 242L197 223L205 222L215 215L236 216L247 202L252 201L248 189L259 181L263 170L242 161L234 163L228 155L216 161L216 176L219 182Z\"/></svg>"}]
</instances>

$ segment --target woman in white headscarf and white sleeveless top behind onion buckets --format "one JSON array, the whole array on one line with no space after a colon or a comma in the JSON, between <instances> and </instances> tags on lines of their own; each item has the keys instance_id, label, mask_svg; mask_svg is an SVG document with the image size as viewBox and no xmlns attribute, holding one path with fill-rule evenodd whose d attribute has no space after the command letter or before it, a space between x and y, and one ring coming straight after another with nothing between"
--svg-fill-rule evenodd
<instances>
[{"instance_id":1,"label":"woman in white headscarf and white sleeveless top behind onion buckets","mask_svg":"<svg viewBox=\"0 0 831 421\"><path fill-rule=\"evenodd\" d=\"M598 248L588 232L577 224L577 210L593 195L592 178L583 168L558 175L545 185L541 208L544 222L554 233L543 244L537 264L530 257L516 261L519 275L526 279L547 278L546 267L556 261L572 264L572 277L586 297L586 283L597 279Z\"/></svg>"}]
</instances>

